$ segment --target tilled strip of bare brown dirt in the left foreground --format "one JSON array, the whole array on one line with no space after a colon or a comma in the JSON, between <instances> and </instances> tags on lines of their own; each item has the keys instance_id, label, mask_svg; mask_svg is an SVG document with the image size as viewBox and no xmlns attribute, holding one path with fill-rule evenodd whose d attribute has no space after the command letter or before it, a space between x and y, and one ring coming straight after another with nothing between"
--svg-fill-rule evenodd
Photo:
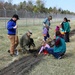
<instances>
[{"instance_id":1,"label":"tilled strip of bare brown dirt in the left foreground","mask_svg":"<svg viewBox=\"0 0 75 75\"><path fill-rule=\"evenodd\" d=\"M20 60L16 60L8 67L2 69L0 71L0 75L24 75L30 68L41 61L42 57L43 55L39 55L38 57L29 55L21 58Z\"/></svg>"}]
</instances>

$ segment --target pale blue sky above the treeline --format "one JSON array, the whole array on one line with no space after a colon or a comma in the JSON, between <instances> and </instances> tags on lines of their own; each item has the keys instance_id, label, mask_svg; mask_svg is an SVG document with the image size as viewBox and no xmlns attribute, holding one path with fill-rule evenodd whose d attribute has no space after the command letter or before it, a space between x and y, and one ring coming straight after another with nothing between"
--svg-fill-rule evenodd
<instances>
[{"instance_id":1,"label":"pale blue sky above the treeline","mask_svg":"<svg viewBox=\"0 0 75 75\"><path fill-rule=\"evenodd\" d=\"M8 1L8 0L5 0ZM20 2L28 0L13 0L13 4L19 4ZM34 2L36 0L33 0ZM75 12L75 0L43 0L45 2L45 7L57 7L62 8L63 10L69 10Z\"/></svg>"}]
</instances>

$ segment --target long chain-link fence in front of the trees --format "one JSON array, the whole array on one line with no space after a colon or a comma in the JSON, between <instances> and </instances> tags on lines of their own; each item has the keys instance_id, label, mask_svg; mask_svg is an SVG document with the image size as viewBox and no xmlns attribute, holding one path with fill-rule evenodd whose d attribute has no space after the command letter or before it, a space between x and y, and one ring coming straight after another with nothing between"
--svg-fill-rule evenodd
<instances>
[{"instance_id":1,"label":"long chain-link fence in front of the trees","mask_svg":"<svg viewBox=\"0 0 75 75\"><path fill-rule=\"evenodd\" d=\"M18 14L20 17L19 25L26 26L26 25L41 25L43 19L51 15L53 17L53 21L63 20L64 17L69 19L73 19L75 15L70 14L55 14L55 13L35 13L35 12L28 12L25 10L6 10L5 8L0 9L0 24L5 27L7 21L12 17L13 14Z\"/></svg>"}]
</instances>

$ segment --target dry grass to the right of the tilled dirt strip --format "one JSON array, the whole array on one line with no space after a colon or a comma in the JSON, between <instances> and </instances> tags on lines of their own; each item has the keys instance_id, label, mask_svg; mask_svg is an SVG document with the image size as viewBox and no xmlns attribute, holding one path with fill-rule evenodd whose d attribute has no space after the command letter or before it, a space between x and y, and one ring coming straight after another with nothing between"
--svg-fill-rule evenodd
<instances>
[{"instance_id":1,"label":"dry grass to the right of the tilled dirt strip","mask_svg":"<svg viewBox=\"0 0 75 75\"><path fill-rule=\"evenodd\" d=\"M28 75L75 75L75 35L67 43L67 52L63 59L46 56Z\"/></svg>"}]
</instances>

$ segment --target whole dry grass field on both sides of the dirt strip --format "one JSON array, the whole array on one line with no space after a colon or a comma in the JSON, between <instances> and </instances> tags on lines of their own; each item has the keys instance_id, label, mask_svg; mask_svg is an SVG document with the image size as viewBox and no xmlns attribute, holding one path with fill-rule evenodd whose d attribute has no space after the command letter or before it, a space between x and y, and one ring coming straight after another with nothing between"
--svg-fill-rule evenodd
<instances>
[{"instance_id":1,"label":"whole dry grass field on both sides of the dirt strip","mask_svg":"<svg viewBox=\"0 0 75 75\"><path fill-rule=\"evenodd\" d=\"M38 47L40 44L40 39L42 36L42 20L38 21L37 24L24 25L24 20L18 21L18 36L20 37L27 31L32 30L35 44ZM51 38L54 36L54 29L56 25L59 25L61 21L52 22L50 30ZM71 30L75 29L75 21L72 20ZM0 69L7 66L9 63L13 62L14 57L10 57L8 54L9 49L9 39L7 38L7 30L5 28L4 22L0 23ZM56 60L52 55L46 56L43 61L41 61L37 66L35 66L29 73L29 75L75 75L75 35L72 36L71 42L67 43L67 52L65 57L61 60ZM38 44L39 43L39 44ZM23 54L24 55L24 54ZM17 58L23 57L23 55L17 56Z\"/></svg>"}]
</instances>

